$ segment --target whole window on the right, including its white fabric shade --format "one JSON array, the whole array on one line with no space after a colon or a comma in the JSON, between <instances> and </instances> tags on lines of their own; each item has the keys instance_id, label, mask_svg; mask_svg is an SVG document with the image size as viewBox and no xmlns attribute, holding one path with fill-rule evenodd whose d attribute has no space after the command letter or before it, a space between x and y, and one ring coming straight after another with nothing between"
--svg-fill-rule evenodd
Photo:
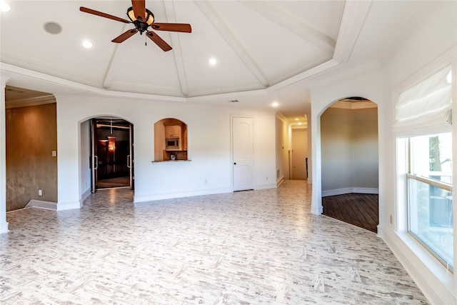
<instances>
[{"instance_id":1,"label":"whole window on the right, including its white fabric shade","mask_svg":"<svg viewBox=\"0 0 457 305\"><path fill-rule=\"evenodd\" d=\"M398 144L406 144L398 145L397 155L398 194L407 197L398 202L398 209L407 208L400 227L448 269L453 269L451 83L447 66L403 91L393 125Z\"/></svg>"}]
</instances>

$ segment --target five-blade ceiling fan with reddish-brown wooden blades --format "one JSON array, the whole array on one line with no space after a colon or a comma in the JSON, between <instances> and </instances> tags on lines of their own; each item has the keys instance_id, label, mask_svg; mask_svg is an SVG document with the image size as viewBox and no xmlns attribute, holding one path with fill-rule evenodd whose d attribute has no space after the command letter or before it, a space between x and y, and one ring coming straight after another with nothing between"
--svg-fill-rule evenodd
<instances>
[{"instance_id":1,"label":"five-blade ceiling fan with reddish-brown wooden blades","mask_svg":"<svg viewBox=\"0 0 457 305\"><path fill-rule=\"evenodd\" d=\"M152 12L149 11L149 9L146 9L145 2L145 0L131 0L131 7L127 9L127 16L129 16L130 21L102 13L101 11L88 9L84 6L81 6L79 10L83 11L84 13L89 13L96 16L101 16L108 19L124 22L124 24L134 24L135 29L125 31L123 34L111 40L116 43L121 43L138 32L140 32L140 34L143 34L143 32L146 31L146 36L148 36L149 39L154 41L157 44L157 46L159 46L164 51L170 51L171 46L167 44L164 41L164 39L161 39L160 36L154 33L153 31L148 31L149 26L151 26L151 29L154 29L156 31L179 31L184 33L191 33L192 29L190 24L170 24L154 22L154 14L152 14Z\"/></svg>"}]
</instances>

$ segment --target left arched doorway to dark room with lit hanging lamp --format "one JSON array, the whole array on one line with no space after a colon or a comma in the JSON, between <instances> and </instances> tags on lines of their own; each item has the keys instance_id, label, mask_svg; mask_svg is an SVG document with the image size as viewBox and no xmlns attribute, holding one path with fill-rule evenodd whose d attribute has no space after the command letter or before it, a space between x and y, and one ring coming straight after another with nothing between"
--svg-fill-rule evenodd
<instances>
[{"instance_id":1,"label":"left arched doorway to dark room with lit hanging lamp","mask_svg":"<svg viewBox=\"0 0 457 305\"><path fill-rule=\"evenodd\" d=\"M91 119L91 191L134 189L134 126L116 117Z\"/></svg>"}]
</instances>

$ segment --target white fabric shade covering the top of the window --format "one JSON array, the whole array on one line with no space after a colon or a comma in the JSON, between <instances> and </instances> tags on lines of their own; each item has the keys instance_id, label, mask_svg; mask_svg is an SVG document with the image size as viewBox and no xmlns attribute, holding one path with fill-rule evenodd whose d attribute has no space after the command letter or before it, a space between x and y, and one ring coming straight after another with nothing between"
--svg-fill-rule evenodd
<instances>
[{"instance_id":1,"label":"white fabric shade covering the top of the window","mask_svg":"<svg viewBox=\"0 0 457 305\"><path fill-rule=\"evenodd\" d=\"M398 96L393 131L398 136L450 131L451 109L451 66L447 66Z\"/></svg>"}]
</instances>

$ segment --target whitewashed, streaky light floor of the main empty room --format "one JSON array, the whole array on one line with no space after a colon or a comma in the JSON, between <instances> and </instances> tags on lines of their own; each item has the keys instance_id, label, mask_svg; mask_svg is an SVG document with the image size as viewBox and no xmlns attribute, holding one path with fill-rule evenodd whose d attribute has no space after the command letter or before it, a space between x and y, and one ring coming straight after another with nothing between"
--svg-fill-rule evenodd
<instances>
[{"instance_id":1,"label":"whitewashed, streaky light floor of the main empty room","mask_svg":"<svg viewBox=\"0 0 457 305\"><path fill-rule=\"evenodd\" d=\"M317 216L311 186L7 214L2 304L428 304L371 231Z\"/></svg>"}]
</instances>

